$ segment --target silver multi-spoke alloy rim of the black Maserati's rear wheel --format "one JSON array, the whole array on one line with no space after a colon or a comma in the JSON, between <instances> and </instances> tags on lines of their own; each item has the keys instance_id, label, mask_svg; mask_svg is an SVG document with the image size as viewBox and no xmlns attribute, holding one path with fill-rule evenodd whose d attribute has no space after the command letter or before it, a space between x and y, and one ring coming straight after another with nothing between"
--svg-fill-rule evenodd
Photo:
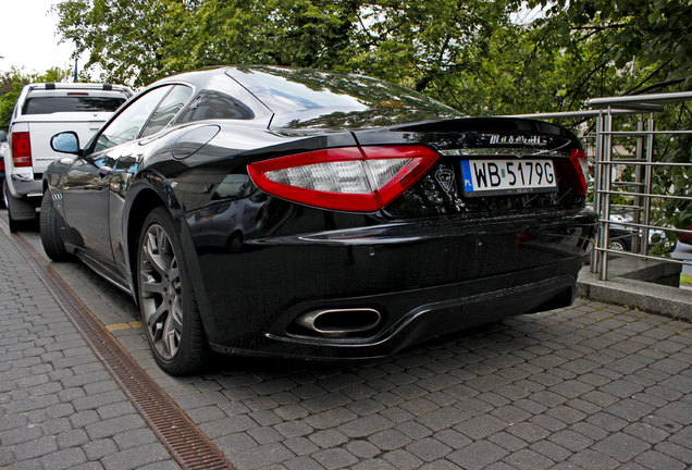
<instances>
[{"instance_id":1,"label":"silver multi-spoke alloy rim of the black Maserati's rear wheel","mask_svg":"<svg viewBox=\"0 0 692 470\"><path fill-rule=\"evenodd\" d=\"M182 282L177 259L165 230L153 223L140 247L139 289L145 327L156 352L175 357L183 336Z\"/></svg>"}]
</instances>

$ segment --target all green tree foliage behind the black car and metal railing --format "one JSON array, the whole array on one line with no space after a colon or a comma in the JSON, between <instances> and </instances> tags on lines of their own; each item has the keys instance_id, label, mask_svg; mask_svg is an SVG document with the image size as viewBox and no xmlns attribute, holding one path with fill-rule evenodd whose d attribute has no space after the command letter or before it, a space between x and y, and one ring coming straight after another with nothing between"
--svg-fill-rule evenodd
<instances>
[{"instance_id":1,"label":"all green tree foliage behind the black car and metal railing","mask_svg":"<svg viewBox=\"0 0 692 470\"><path fill-rule=\"evenodd\" d=\"M59 30L102 79L219 64L358 72L469 114L571 110L692 75L692 1L67 0Z\"/></svg>"}]
</instances>

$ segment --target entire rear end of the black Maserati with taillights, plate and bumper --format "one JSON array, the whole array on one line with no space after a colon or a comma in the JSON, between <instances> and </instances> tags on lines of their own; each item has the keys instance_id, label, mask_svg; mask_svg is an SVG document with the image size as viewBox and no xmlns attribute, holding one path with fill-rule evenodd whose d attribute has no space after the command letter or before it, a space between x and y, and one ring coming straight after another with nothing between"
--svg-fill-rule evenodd
<instances>
[{"instance_id":1,"label":"entire rear end of the black Maserati with taillights, plate and bumper","mask_svg":"<svg viewBox=\"0 0 692 470\"><path fill-rule=\"evenodd\" d=\"M218 350L375 357L572 302L595 215L571 133L453 119L350 138L250 158L260 190L227 209L243 243L196 242Z\"/></svg>"}]
</instances>

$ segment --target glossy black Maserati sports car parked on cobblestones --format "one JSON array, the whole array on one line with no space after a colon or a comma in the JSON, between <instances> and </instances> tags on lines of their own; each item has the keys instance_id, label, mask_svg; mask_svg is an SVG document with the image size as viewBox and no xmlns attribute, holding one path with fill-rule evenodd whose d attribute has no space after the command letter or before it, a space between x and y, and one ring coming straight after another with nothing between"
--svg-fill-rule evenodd
<instances>
[{"instance_id":1,"label":"glossy black Maserati sports car parked on cobblestones","mask_svg":"<svg viewBox=\"0 0 692 470\"><path fill-rule=\"evenodd\" d=\"M131 293L158 363L355 359L569 305L591 248L568 131L376 79L173 76L45 173L41 239Z\"/></svg>"}]
</instances>

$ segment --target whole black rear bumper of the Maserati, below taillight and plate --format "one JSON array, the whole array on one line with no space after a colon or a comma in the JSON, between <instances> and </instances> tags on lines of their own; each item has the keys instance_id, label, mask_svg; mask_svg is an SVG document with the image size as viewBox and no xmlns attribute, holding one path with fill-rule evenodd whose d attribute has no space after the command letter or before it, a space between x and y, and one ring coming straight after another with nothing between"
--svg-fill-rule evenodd
<instances>
[{"instance_id":1,"label":"whole black rear bumper of the Maserati, below taillight and plate","mask_svg":"<svg viewBox=\"0 0 692 470\"><path fill-rule=\"evenodd\" d=\"M508 316L568 306L594 230L594 214L583 211L441 218L264 237L235 249L199 238L195 290L215 350L372 358ZM367 334L337 338L295 327L306 312L351 308L376 310L382 320Z\"/></svg>"}]
</instances>

